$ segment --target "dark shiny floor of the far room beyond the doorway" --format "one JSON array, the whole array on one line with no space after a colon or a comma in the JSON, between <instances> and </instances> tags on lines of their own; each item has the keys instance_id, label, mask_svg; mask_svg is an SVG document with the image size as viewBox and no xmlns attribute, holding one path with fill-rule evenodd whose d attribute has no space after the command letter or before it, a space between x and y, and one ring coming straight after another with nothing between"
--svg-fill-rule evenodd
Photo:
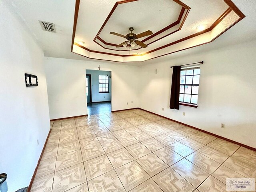
<instances>
[{"instance_id":1,"label":"dark shiny floor of the far room beyond the doorway","mask_svg":"<svg viewBox=\"0 0 256 192\"><path fill-rule=\"evenodd\" d=\"M111 102L88 103L87 112L88 115L111 112Z\"/></svg>"}]
</instances>

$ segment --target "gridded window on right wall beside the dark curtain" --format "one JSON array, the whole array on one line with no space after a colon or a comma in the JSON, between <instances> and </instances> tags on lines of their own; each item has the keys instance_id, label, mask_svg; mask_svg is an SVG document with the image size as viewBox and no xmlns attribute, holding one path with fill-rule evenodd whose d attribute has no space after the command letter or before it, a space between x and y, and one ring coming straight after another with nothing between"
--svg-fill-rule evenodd
<instances>
[{"instance_id":1,"label":"gridded window on right wall beside the dark curtain","mask_svg":"<svg viewBox=\"0 0 256 192\"><path fill-rule=\"evenodd\" d=\"M180 102L197 104L200 66L187 67L180 71Z\"/></svg>"}]
</instances>

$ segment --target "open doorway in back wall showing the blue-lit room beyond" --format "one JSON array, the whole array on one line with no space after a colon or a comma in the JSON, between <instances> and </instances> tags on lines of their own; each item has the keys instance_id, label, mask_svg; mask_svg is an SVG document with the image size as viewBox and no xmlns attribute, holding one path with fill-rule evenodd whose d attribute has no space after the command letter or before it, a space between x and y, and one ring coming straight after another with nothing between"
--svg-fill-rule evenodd
<instances>
[{"instance_id":1,"label":"open doorway in back wall showing the blue-lit room beyond","mask_svg":"<svg viewBox=\"0 0 256 192\"><path fill-rule=\"evenodd\" d=\"M87 114L111 112L111 72L86 70Z\"/></svg>"}]
</instances>

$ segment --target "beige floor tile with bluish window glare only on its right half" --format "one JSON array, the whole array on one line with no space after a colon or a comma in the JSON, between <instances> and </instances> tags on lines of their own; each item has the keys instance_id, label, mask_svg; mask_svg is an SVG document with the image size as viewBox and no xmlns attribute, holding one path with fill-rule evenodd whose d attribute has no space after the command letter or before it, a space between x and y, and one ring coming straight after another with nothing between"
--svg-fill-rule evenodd
<instances>
[{"instance_id":1,"label":"beige floor tile with bluish window glare only on its right half","mask_svg":"<svg viewBox=\"0 0 256 192\"><path fill-rule=\"evenodd\" d=\"M170 150L168 147L164 147L154 152L162 161L164 161L169 166L181 160L183 157Z\"/></svg>"}]
</instances>

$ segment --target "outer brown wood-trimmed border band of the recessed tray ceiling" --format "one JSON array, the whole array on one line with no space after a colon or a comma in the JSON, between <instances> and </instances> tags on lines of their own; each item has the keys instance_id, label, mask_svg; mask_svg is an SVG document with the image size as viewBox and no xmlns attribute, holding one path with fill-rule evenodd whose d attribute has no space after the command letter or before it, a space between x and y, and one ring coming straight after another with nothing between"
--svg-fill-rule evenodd
<instances>
[{"instance_id":1,"label":"outer brown wood-trimmed border band of the recessed tray ceiling","mask_svg":"<svg viewBox=\"0 0 256 192\"><path fill-rule=\"evenodd\" d=\"M132 1L137 1L137 0L125 0L122 2L132 2ZM245 17L244 14L234 5L234 3L231 0L223 0L223 1L229 6L229 8L208 29L203 30L201 32L197 32L185 38L181 38L180 40L170 42L164 46L160 46L158 48L155 48L143 54L121 55L121 54L114 54L110 52L90 50L89 48L86 48L74 42L75 34L76 34L77 19L78 19L78 10L80 5L80 0L76 0L71 52L87 58L98 59L98 60L106 60L106 61L114 61L114 62L141 62L141 61L158 58L161 56L172 54L174 52L179 52L182 50L186 50L189 48L210 43ZM218 33L218 30L219 30L219 33ZM202 36L203 40L198 38L200 36ZM208 39L210 38L210 40L206 40L207 38ZM197 40L198 43L195 43L195 40ZM184 47L182 47L181 45L177 46L177 44L179 43L182 44L182 42L186 42L188 46L187 47L186 45ZM170 46L171 48L169 48L168 51L166 51L166 48ZM160 52L160 50L162 50L162 52ZM132 58L132 59L127 59L127 58Z\"/></svg>"}]
</instances>

